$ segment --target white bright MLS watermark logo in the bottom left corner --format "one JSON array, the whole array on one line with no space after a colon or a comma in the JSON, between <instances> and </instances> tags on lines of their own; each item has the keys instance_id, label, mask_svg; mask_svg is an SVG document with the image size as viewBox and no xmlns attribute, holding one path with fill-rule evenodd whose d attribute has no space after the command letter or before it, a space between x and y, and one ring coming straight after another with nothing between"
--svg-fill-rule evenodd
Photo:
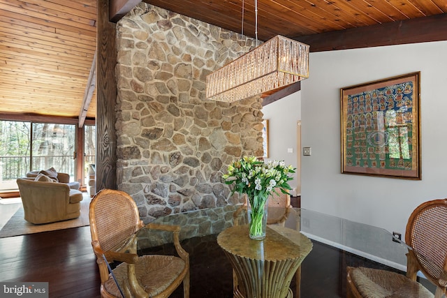
<instances>
[{"instance_id":1,"label":"white bright MLS watermark logo in the bottom left corner","mask_svg":"<svg viewBox=\"0 0 447 298\"><path fill-rule=\"evenodd\" d=\"M0 298L48 298L48 283L0 283Z\"/></svg>"}]
</instances>

